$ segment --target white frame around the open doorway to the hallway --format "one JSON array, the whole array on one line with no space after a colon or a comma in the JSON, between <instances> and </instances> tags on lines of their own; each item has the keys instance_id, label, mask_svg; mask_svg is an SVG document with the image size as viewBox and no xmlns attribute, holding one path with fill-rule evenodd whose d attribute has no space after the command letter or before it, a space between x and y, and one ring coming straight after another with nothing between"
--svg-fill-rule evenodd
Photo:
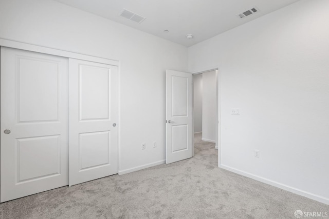
<instances>
[{"instance_id":1,"label":"white frame around the open doorway to the hallway","mask_svg":"<svg viewBox=\"0 0 329 219\"><path fill-rule=\"evenodd\" d=\"M204 70L199 70L192 72L192 136L194 136L194 77L193 75L196 74L202 74L206 73L209 71L216 71L216 101L217 101L217 109L216 109L216 114L217 114L217 126L216 126L216 143L215 143L215 148L218 149L218 167L220 167L222 163L222 133L221 133L221 70L220 66L217 67L212 67L212 68L205 68ZM194 141L192 141L192 156L194 156Z\"/></svg>"}]
</instances>

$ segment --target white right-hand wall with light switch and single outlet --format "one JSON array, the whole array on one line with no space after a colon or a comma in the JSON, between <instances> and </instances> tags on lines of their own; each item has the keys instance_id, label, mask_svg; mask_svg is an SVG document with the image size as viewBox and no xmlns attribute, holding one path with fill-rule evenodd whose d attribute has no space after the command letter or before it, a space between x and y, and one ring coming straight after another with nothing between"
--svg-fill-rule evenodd
<instances>
[{"instance_id":1,"label":"white right-hand wall with light switch and single outlet","mask_svg":"<svg viewBox=\"0 0 329 219\"><path fill-rule=\"evenodd\" d=\"M328 11L301 0L189 48L191 72L220 66L222 167L327 204Z\"/></svg>"}]
</instances>

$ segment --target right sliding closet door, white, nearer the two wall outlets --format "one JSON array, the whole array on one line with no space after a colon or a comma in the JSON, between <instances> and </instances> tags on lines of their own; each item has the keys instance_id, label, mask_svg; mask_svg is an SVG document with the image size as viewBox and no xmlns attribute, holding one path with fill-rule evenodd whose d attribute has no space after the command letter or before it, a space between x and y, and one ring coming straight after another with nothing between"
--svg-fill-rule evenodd
<instances>
[{"instance_id":1,"label":"right sliding closet door, white, nearer the two wall outlets","mask_svg":"<svg viewBox=\"0 0 329 219\"><path fill-rule=\"evenodd\" d=\"M117 66L69 59L69 185L118 173Z\"/></svg>"}]
</instances>

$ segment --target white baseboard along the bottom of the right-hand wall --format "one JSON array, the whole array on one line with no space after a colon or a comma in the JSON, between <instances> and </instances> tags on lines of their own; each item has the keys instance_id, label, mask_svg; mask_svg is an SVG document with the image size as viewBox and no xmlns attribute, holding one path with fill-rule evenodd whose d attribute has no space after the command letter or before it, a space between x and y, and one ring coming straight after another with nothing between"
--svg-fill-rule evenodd
<instances>
[{"instance_id":1,"label":"white baseboard along the bottom of the right-hand wall","mask_svg":"<svg viewBox=\"0 0 329 219\"><path fill-rule=\"evenodd\" d=\"M275 187L278 187L280 189L283 189L283 190L286 190L286 191L289 191L289 192L293 192L295 194L302 195L302 196L308 197L310 199L313 199L315 201L322 202L326 205L329 205L329 198L327 198L327 197L323 197L323 196L320 196L320 195L317 195L317 194L306 192L306 191L303 191L303 190L300 190L300 189L297 189L297 188L294 188L294 187L291 187L291 186L287 186L285 184L278 183L278 182L275 182L275 181L272 181L272 180L268 180L267 178L264 178L264 177L261 177L261 176L258 176L258 175L254 175L254 174L251 174L251 173L239 170L239 169L235 169L235 168L223 165L223 164L219 165L219 167L222 168L222 169L225 169L225 170L228 170L228 171L231 171L231 172L234 172L234 173L252 178L253 180L257 180L257 181L260 181L262 183L266 183L268 185L275 186Z\"/></svg>"}]
</instances>

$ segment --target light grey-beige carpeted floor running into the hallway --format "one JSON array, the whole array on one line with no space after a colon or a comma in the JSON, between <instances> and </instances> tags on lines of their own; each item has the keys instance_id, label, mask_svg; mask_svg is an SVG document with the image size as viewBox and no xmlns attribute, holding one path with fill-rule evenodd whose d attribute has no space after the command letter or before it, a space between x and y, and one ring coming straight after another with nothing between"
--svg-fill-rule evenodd
<instances>
[{"instance_id":1,"label":"light grey-beige carpeted floor running into the hallway","mask_svg":"<svg viewBox=\"0 0 329 219\"><path fill-rule=\"evenodd\" d=\"M264 219L296 218L298 209L329 212L328 205L218 168L214 144L200 134L195 140L191 159L19 198L1 204L0 217Z\"/></svg>"}]
</instances>

